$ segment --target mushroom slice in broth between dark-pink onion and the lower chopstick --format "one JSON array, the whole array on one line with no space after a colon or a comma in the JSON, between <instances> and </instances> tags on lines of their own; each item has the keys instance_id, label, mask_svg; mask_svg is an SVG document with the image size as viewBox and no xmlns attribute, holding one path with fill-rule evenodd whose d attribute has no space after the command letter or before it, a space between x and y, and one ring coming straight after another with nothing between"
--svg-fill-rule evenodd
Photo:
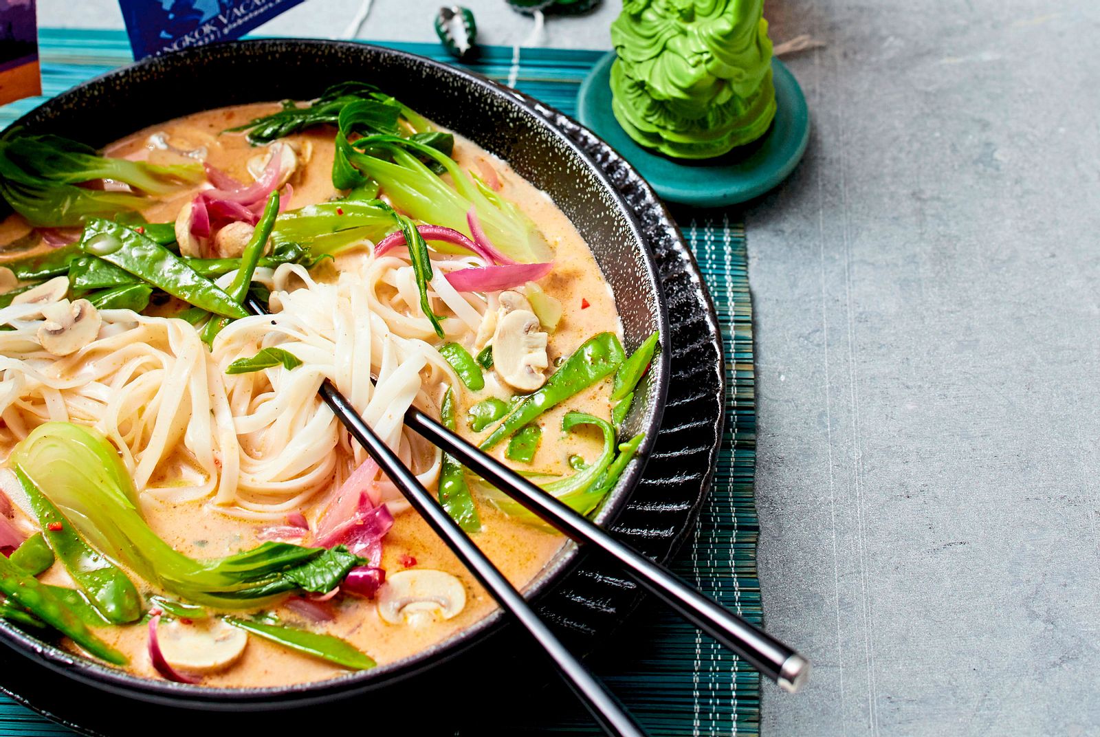
<instances>
[{"instance_id":1,"label":"mushroom slice in broth between dark-pink onion and the lower chopstick","mask_svg":"<svg viewBox=\"0 0 1100 737\"><path fill-rule=\"evenodd\" d=\"M392 625L420 627L450 619L466 605L466 590L450 573L426 568L386 576L378 590L378 616Z\"/></svg>"}]
</instances>

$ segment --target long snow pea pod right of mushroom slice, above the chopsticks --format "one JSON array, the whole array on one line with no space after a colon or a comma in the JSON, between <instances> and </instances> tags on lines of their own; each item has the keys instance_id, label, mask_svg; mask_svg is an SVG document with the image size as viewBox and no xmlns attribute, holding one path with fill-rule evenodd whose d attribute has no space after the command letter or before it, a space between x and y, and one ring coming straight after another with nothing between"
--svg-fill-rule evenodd
<instances>
[{"instance_id":1,"label":"long snow pea pod right of mushroom slice, above the chopsticks","mask_svg":"<svg viewBox=\"0 0 1100 737\"><path fill-rule=\"evenodd\" d=\"M482 441L480 448L482 450L493 448L551 407L605 378L622 363L623 345L614 333L602 332L593 336L561 364L542 388L516 405L492 435Z\"/></svg>"}]
</instances>

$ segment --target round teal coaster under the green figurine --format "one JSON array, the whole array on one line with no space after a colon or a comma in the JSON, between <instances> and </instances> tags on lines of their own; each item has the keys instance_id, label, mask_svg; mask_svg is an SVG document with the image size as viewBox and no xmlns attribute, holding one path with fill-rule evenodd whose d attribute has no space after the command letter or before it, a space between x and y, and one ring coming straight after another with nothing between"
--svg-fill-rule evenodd
<instances>
[{"instance_id":1,"label":"round teal coaster under the green figurine","mask_svg":"<svg viewBox=\"0 0 1100 737\"><path fill-rule=\"evenodd\" d=\"M630 162L657 194L673 202L723 207L759 197L794 169L810 141L810 111L794 75L771 61L776 85L776 120L762 139L718 158L673 160L634 142L612 113L609 75L614 52L581 85L581 122Z\"/></svg>"}]
</instances>

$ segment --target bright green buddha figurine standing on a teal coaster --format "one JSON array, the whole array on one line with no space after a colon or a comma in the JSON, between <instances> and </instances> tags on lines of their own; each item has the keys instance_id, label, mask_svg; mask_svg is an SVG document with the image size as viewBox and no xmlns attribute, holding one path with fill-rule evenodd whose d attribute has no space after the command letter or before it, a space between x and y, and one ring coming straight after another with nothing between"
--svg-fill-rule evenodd
<instances>
[{"instance_id":1,"label":"bright green buddha figurine standing on a teal coaster","mask_svg":"<svg viewBox=\"0 0 1100 737\"><path fill-rule=\"evenodd\" d=\"M625 0L612 43L612 110L644 146L721 156L776 117L763 0Z\"/></svg>"}]
</instances>

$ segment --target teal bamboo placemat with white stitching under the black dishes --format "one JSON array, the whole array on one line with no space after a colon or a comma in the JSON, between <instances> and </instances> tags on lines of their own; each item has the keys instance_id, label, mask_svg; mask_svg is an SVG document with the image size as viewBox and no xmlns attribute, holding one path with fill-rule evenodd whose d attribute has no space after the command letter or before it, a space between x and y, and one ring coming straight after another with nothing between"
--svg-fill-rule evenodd
<instances>
[{"instance_id":1,"label":"teal bamboo placemat with white stitching under the black dishes","mask_svg":"<svg viewBox=\"0 0 1100 737\"><path fill-rule=\"evenodd\" d=\"M131 61L121 31L62 31L40 34L42 84L46 96ZM386 44L449 61L436 44ZM510 84L568 114L598 51L487 46L474 70ZM0 127L37 106L31 98L0 108ZM680 226L714 299L726 348L726 428L714 487L694 537L674 569L702 591L750 622L760 623L756 543L759 530L752 496L756 413L752 375L752 310L744 227L728 213L681 211ZM652 735L670 737L758 735L760 676L710 638L661 607L647 603L622 634L623 646L595 661L598 674ZM634 647L630 642L644 642ZM565 704L537 710L539 726L517 730L595 734L591 722ZM484 735L484 727L461 734ZM0 697L0 736L70 735L26 708ZM494 732L494 734L499 734Z\"/></svg>"}]
</instances>

